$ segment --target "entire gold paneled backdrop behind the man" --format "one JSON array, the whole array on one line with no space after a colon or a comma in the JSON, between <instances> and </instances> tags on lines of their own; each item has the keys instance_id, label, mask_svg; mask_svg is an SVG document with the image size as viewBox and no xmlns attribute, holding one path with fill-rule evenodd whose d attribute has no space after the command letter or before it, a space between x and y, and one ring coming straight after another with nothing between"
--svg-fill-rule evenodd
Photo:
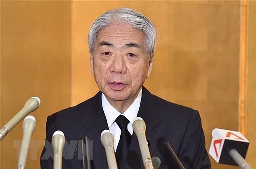
<instances>
[{"instance_id":1,"label":"entire gold paneled backdrop behind the man","mask_svg":"<svg viewBox=\"0 0 256 169\"><path fill-rule=\"evenodd\" d=\"M255 0L248 0L246 160L256 168ZM151 93L199 110L206 149L214 128L239 131L239 0L7 1L0 0L0 126L31 96L41 105L26 168L40 168L46 118L97 93L90 74L88 30L102 13L130 7L158 31ZM16 168L22 123L0 141L0 168ZM217 164L212 168L238 168Z\"/></svg>"}]
</instances>

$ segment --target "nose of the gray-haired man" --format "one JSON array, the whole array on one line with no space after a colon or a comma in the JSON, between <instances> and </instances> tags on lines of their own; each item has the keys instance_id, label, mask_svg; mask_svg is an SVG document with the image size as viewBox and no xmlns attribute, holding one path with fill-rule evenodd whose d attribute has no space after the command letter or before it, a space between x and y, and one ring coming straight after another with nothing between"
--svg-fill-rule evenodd
<instances>
[{"instance_id":1,"label":"nose of the gray-haired man","mask_svg":"<svg viewBox=\"0 0 256 169\"><path fill-rule=\"evenodd\" d=\"M110 67L111 73L123 73L127 72L126 62L124 56L116 55L112 58Z\"/></svg>"}]
</instances>

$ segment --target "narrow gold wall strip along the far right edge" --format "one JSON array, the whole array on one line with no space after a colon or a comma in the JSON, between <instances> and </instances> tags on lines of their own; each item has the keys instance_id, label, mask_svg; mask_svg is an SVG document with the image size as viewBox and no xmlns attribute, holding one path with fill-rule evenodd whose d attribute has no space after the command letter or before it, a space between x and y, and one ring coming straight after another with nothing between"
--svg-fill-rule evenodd
<instances>
[{"instance_id":1,"label":"narrow gold wall strip along the far right edge","mask_svg":"<svg viewBox=\"0 0 256 169\"><path fill-rule=\"evenodd\" d=\"M246 137L250 141L247 159L256 169L256 1L249 1L248 11L248 91Z\"/></svg>"}]
</instances>

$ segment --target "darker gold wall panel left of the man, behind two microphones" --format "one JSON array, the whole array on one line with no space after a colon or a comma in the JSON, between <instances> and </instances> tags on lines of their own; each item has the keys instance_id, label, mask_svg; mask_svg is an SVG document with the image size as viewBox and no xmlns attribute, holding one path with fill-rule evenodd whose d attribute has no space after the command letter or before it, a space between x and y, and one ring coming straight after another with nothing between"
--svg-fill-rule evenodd
<instances>
[{"instance_id":1,"label":"darker gold wall panel left of the man, behind two microphones","mask_svg":"<svg viewBox=\"0 0 256 169\"><path fill-rule=\"evenodd\" d=\"M26 166L40 168L46 118L70 106L71 2L1 0L0 6L0 126L28 98L40 97ZM22 133L21 122L0 141L1 169L16 168Z\"/></svg>"}]
</instances>

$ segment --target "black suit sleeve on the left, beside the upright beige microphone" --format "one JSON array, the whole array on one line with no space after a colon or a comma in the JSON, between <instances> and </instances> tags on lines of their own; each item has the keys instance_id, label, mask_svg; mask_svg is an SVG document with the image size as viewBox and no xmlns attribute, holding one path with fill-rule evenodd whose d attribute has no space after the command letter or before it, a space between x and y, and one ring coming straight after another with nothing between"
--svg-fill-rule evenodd
<instances>
[{"instance_id":1,"label":"black suit sleeve on the left, beside the upright beige microphone","mask_svg":"<svg viewBox=\"0 0 256 169\"><path fill-rule=\"evenodd\" d=\"M52 116L47 117L46 122L46 138L45 146L40 157L41 169L52 169L53 168L53 149L52 149L52 134L56 131Z\"/></svg>"}]
</instances>

